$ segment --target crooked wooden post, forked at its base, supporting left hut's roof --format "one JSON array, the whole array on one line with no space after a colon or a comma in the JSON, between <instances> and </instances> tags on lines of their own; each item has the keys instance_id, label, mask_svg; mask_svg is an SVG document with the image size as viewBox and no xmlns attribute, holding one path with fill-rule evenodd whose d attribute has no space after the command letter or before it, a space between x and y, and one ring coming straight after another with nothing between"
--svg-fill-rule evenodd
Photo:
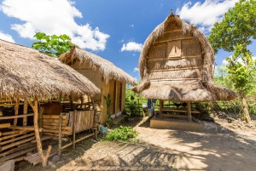
<instances>
[{"instance_id":1,"label":"crooked wooden post, forked at its base, supporting left hut's roof","mask_svg":"<svg viewBox=\"0 0 256 171\"><path fill-rule=\"evenodd\" d=\"M36 135L36 140L37 140L38 154L42 160L42 165L44 168L47 166L47 160L49 157L49 152L51 150L51 145L48 146L46 156L44 157L42 144L41 144L41 140L40 140L40 135L39 135L39 129L38 129L38 100L34 100L33 102L31 100L29 100L28 103L29 103L29 105L32 106L32 109L34 111L34 128L35 128L35 135Z\"/></svg>"}]
</instances>

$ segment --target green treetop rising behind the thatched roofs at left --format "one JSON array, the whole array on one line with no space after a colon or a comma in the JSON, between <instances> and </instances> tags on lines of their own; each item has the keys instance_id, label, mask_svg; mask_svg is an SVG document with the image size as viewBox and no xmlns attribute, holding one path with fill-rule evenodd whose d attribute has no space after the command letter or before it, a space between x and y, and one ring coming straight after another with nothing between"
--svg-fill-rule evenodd
<instances>
[{"instance_id":1,"label":"green treetop rising behind the thatched roofs at left","mask_svg":"<svg viewBox=\"0 0 256 171\"><path fill-rule=\"evenodd\" d=\"M32 48L36 48L52 57L59 57L73 47L71 38L66 34L58 37L56 35L46 35L44 32L37 32L33 37L37 38L38 42L32 43Z\"/></svg>"}]
</instances>

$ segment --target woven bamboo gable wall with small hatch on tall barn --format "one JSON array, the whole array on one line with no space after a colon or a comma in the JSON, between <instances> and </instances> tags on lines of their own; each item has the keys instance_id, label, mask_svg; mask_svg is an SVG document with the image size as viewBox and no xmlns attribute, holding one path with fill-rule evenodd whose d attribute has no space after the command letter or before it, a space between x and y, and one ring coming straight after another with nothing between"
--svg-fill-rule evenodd
<instances>
[{"instance_id":1,"label":"woven bamboo gable wall with small hatch on tall barn","mask_svg":"<svg viewBox=\"0 0 256 171\"><path fill-rule=\"evenodd\" d=\"M201 44L171 23L148 50L148 77L155 79L201 79L203 57Z\"/></svg>"}]
</instances>

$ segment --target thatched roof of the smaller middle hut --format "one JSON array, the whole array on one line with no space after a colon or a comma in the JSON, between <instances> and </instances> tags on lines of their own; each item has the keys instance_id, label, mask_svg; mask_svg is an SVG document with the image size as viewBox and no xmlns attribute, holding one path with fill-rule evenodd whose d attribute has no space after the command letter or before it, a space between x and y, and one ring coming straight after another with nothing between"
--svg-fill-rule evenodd
<instances>
[{"instance_id":1,"label":"thatched roof of the smaller middle hut","mask_svg":"<svg viewBox=\"0 0 256 171\"><path fill-rule=\"evenodd\" d=\"M92 54L81 48L72 48L69 52L61 54L59 60L69 66L76 62L89 64L93 71L97 71L102 74L102 77L107 81L113 79L118 80L119 82L137 85L137 81L133 77L121 70L119 67L114 66L110 61L102 59L96 54Z\"/></svg>"}]
</instances>

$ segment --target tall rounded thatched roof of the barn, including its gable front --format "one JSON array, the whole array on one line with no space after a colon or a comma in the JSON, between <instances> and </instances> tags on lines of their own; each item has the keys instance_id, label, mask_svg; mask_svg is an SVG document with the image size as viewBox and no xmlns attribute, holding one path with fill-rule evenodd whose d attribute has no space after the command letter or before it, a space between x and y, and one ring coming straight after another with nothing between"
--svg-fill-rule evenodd
<instances>
[{"instance_id":1,"label":"tall rounded thatched roof of the barn, including its gable front","mask_svg":"<svg viewBox=\"0 0 256 171\"><path fill-rule=\"evenodd\" d=\"M132 88L148 99L234 100L236 93L212 82L214 53L197 27L170 14L146 39L139 60L142 83Z\"/></svg>"}]
</instances>

